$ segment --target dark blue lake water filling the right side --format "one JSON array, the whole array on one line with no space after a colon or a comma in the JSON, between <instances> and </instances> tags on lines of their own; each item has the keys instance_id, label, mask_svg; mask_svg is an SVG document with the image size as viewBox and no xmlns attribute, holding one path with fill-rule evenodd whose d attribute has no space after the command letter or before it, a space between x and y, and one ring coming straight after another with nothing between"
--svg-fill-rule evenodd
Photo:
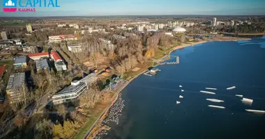
<instances>
[{"instance_id":1,"label":"dark blue lake water filling the right side","mask_svg":"<svg viewBox=\"0 0 265 139\"><path fill-rule=\"evenodd\" d=\"M180 56L179 65L158 66L156 76L141 75L122 91L126 107L120 124L112 124L103 138L264 138L265 115L245 111L265 110L264 43L265 38L206 42L172 52ZM206 87L218 88L216 95L199 92ZM252 105L236 94L253 99Z\"/></svg>"}]
</instances>

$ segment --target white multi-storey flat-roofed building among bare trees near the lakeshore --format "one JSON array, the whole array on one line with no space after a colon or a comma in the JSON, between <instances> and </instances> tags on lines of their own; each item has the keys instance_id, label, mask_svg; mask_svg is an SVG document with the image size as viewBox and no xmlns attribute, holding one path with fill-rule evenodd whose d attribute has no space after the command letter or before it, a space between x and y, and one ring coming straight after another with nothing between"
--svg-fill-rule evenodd
<instances>
[{"instance_id":1,"label":"white multi-storey flat-roofed building among bare trees near the lakeshore","mask_svg":"<svg viewBox=\"0 0 265 139\"><path fill-rule=\"evenodd\" d=\"M86 83L73 81L71 85L63 88L56 95L52 96L53 104L63 104L65 102L75 101L86 90Z\"/></svg>"}]
</instances>

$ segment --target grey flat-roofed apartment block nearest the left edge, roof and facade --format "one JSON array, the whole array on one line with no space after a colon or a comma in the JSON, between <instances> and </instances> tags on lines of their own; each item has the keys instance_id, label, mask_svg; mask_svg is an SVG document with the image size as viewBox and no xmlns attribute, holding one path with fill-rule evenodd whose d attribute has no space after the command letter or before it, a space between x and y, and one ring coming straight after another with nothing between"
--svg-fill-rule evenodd
<instances>
[{"instance_id":1,"label":"grey flat-roofed apartment block nearest the left edge, roof and facade","mask_svg":"<svg viewBox=\"0 0 265 139\"><path fill-rule=\"evenodd\" d=\"M25 72L11 74L6 87L6 94L10 96L10 103L21 101L20 89L25 84Z\"/></svg>"}]
</instances>

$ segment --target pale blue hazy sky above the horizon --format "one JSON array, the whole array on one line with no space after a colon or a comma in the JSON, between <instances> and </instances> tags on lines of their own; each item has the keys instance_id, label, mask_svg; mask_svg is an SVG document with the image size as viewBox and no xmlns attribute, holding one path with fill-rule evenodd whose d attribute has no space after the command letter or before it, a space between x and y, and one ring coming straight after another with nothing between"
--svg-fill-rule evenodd
<instances>
[{"instance_id":1,"label":"pale blue hazy sky above the horizon","mask_svg":"<svg viewBox=\"0 0 265 139\"><path fill-rule=\"evenodd\" d=\"M2 1L6 0L0 0ZM17 0L22 4L33 0ZM37 1L37 0L35 0ZM38 0L44 1L44 0ZM50 1L50 0L46 0ZM53 0L56 1L56 0ZM3 13L0 17L99 15L265 15L265 0L57 0L59 8ZM54 2L55 3L55 2ZM3 5L0 4L0 8ZM17 4L18 6L18 4ZM17 8L20 8L19 6Z\"/></svg>"}]
</instances>

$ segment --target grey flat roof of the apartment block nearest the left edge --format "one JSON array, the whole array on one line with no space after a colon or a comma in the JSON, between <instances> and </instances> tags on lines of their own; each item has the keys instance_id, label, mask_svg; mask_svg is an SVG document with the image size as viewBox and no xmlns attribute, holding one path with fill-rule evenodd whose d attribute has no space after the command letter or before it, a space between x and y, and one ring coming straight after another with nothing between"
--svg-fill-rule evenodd
<instances>
[{"instance_id":1,"label":"grey flat roof of the apartment block nearest the left edge","mask_svg":"<svg viewBox=\"0 0 265 139\"><path fill-rule=\"evenodd\" d=\"M11 74L8 80L8 86L6 87L6 90L11 90L13 88L20 87L23 83L25 83L25 72Z\"/></svg>"}]
</instances>

